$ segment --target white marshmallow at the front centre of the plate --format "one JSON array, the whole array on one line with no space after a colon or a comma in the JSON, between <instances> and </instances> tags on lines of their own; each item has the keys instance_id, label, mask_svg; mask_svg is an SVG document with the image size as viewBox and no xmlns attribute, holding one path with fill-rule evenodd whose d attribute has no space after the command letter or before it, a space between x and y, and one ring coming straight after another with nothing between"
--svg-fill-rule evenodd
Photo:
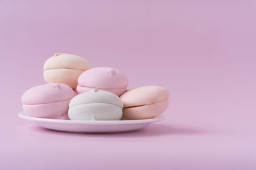
<instances>
[{"instance_id":1,"label":"white marshmallow at the front centre of the plate","mask_svg":"<svg viewBox=\"0 0 256 170\"><path fill-rule=\"evenodd\" d=\"M78 94L69 103L70 120L120 120L123 103L111 92L91 89Z\"/></svg>"}]
</instances>

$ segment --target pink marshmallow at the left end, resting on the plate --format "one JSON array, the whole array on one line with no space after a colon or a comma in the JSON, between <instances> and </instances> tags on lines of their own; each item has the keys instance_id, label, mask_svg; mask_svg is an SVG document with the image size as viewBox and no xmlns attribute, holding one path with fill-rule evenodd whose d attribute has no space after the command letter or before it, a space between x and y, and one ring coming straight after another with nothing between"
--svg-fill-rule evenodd
<instances>
[{"instance_id":1,"label":"pink marshmallow at the left end, resting on the plate","mask_svg":"<svg viewBox=\"0 0 256 170\"><path fill-rule=\"evenodd\" d=\"M61 83L38 85L22 96L22 108L26 115L40 118L61 118L68 112L68 104L74 91Z\"/></svg>"}]
</instances>

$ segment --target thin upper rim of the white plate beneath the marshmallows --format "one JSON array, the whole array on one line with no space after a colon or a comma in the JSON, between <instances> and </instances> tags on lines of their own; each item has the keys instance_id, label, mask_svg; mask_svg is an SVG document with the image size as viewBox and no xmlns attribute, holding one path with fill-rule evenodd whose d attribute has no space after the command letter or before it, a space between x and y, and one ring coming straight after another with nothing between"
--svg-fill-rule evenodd
<instances>
[{"instance_id":1,"label":"thin upper rim of the white plate beneath the marshmallows","mask_svg":"<svg viewBox=\"0 0 256 170\"><path fill-rule=\"evenodd\" d=\"M52 123L52 124L92 124L92 125L104 125L104 124L148 124L152 122L159 122L164 120L164 117L155 117L148 119L140 119L140 120L63 120L63 119L53 119L53 118L38 118L38 117L29 117L25 115L24 112L20 112L18 117L31 120L33 122L44 122L44 123Z\"/></svg>"}]
</instances>

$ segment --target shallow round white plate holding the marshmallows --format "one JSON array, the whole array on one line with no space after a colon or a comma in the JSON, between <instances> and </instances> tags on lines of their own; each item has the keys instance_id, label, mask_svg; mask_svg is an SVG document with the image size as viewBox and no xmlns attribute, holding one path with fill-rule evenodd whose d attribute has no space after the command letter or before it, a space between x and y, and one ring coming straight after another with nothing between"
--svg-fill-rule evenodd
<instances>
[{"instance_id":1,"label":"shallow round white plate holding the marshmallows","mask_svg":"<svg viewBox=\"0 0 256 170\"><path fill-rule=\"evenodd\" d=\"M126 132L142 129L153 122L163 120L162 117L143 120L61 120L52 118L29 117L23 112L19 113L20 118L35 122L35 124L46 129L65 132Z\"/></svg>"}]
</instances>

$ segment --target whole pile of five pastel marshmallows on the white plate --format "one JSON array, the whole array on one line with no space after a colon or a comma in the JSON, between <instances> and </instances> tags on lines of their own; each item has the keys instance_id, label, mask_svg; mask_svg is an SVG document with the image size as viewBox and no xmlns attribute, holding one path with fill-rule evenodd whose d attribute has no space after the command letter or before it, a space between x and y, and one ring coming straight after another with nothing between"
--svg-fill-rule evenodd
<instances>
[{"instance_id":1,"label":"whole pile of five pastel marshmallows on the white plate","mask_svg":"<svg viewBox=\"0 0 256 170\"><path fill-rule=\"evenodd\" d=\"M146 119L168 108L163 87L127 90L127 77L111 67L92 67L82 57L56 53L44 64L45 85L28 89L22 108L30 117L70 120ZM67 117L68 114L68 117Z\"/></svg>"}]
</instances>

